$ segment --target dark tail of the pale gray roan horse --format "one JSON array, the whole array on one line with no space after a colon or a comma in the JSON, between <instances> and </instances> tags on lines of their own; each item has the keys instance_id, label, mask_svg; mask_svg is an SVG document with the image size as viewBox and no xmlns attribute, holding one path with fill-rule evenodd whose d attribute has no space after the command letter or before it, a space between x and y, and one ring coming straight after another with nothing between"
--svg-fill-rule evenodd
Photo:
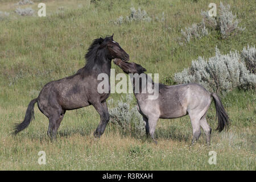
<instances>
[{"instance_id":1,"label":"dark tail of the pale gray roan horse","mask_svg":"<svg viewBox=\"0 0 256 182\"><path fill-rule=\"evenodd\" d=\"M226 113L224 106L221 103L220 98L217 96L216 93L212 93L211 96L213 97L213 101L216 108L216 117L218 118L218 127L216 130L221 132L223 129L227 129L229 127L229 116Z\"/></svg>"}]
</instances>

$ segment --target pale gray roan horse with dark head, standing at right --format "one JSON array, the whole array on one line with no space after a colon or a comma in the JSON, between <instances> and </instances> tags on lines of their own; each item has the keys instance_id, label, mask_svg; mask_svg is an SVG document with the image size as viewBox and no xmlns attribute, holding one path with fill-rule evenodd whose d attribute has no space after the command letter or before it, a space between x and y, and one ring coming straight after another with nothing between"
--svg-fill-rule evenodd
<instances>
[{"instance_id":1,"label":"pale gray roan horse with dark head, standing at right","mask_svg":"<svg viewBox=\"0 0 256 182\"><path fill-rule=\"evenodd\" d=\"M141 65L132 62L123 62L120 59L115 59L114 64L118 65L125 73L133 73L131 82L133 83L133 92L135 91L135 80L139 79L139 92L135 93L137 99L137 109L142 114L145 122L146 134L150 134L151 138L156 142L154 138L156 122L159 118L171 119L179 118L189 114L193 127L193 140L192 143L200 137L201 130L203 128L206 135L207 143L210 143L210 134L212 132L211 127L208 125L205 115L209 109L209 106L214 100L216 107L216 115L218 117L218 127L216 130L222 131L229 125L229 117L226 114L224 106L221 104L220 98L215 93L209 93L203 86L199 84L182 84L167 86L152 82L152 78L144 72L146 69ZM135 74L138 73L138 74ZM150 95L145 89L148 87L143 86L142 75L152 82L152 88L158 86L159 95L155 100L148 100ZM137 84L138 86L138 84ZM144 92L143 92L144 91ZM152 93L152 92L150 92Z\"/></svg>"}]
</instances>

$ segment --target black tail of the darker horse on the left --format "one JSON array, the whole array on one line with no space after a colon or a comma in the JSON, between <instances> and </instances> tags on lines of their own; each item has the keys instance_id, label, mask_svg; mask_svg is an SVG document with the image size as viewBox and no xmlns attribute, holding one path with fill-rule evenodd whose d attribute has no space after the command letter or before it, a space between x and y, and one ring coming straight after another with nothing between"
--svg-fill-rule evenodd
<instances>
[{"instance_id":1,"label":"black tail of the darker horse on the left","mask_svg":"<svg viewBox=\"0 0 256 182\"><path fill-rule=\"evenodd\" d=\"M35 118L35 116L34 116L34 105L35 105L36 102L38 102L38 98L35 98L32 101L30 101L30 104L28 104L26 115L25 115L25 118L24 118L23 122L14 124L14 131L13 131L14 135L16 135L20 131L26 129L26 127L30 124L32 119Z\"/></svg>"}]
</instances>

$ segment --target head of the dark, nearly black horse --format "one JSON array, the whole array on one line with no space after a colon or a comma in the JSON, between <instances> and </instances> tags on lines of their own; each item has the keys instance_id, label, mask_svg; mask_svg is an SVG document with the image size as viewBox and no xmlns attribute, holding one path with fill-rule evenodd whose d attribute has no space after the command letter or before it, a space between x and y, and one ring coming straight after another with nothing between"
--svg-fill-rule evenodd
<instances>
[{"instance_id":1,"label":"head of the dark, nearly black horse","mask_svg":"<svg viewBox=\"0 0 256 182\"><path fill-rule=\"evenodd\" d=\"M108 36L104 39L101 47L106 47L106 55L109 59L121 59L123 61L129 61L129 54L127 54L117 42L113 40L113 36Z\"/></svg>"}]
</instances>

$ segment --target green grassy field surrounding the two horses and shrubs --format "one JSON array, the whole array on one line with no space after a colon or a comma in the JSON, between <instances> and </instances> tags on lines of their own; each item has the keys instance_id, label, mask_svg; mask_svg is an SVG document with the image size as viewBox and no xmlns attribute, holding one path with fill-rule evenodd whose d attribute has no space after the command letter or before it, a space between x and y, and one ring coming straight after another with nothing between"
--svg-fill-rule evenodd
<instances>
[{"instance_id":1,"label":"green grassy field surrounding the two horses and shrubs","mask_svg":"<svg viewBox=\"0 0 256 182\"><path fill-rule=\"evenodd\" d=\"M181 28L201 21L201 10L213 1L125 0L125 1L42 1L47 16L19 16L18 1L0 0L0 11L10 15L0 20L0 169L1 170L255 170L255 90L234 89L221 96L232 123L228 132L213 130L211 146L205 146L202 133L191 145L189 117L160 119L155 145L146 138L124 134L109 123L100 139L93 137L100 117L92 106L67 111L57 142L47 137L48 119L35 106L35 121L16 137L14 122L22 121L28 103L49 81L75 73L85 64L84 55L93 39L112 35L147 73L159 73L159 81L173 84L174 73L188 67L198 56L214 55L255 45L255 2L222 1L246 30L228 39L216 31L180 46ZM40 1L41 2L41 1ZM220 1L214 2L219 5ZM128 16L130 7L141 7L151 22L116 25L119 16ZM218 8L218 7L217 7ZM156 16L164 20L157 21ZM114 64L116 73L121 72ZM109 99L115 106L121 94ZM135 103L135 102L134 102ZM207 120L217 127L212 104ZM38 164L38 152L46 152L46 165ZM210 165L209 151L217 152L217 164Z\"/></svg>"}]
</instances>

